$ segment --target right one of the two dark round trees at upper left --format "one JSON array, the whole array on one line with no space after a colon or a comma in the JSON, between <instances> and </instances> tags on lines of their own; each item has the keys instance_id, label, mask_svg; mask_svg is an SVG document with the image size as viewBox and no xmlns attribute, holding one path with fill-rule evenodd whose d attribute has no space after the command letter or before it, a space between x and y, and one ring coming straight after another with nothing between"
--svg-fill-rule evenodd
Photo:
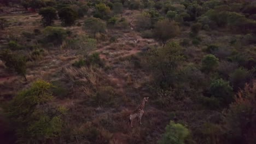
<instances>
[{"instance_id":1,"label":"right one of the two dark round trees at upper left","mask_svg":"<svg viewBox=\"0 0 256 144\"><path fill-rule=\"evenodd\" d=\"M71 26L75 23L75 20L78 18L77 11L74 11L72 8L65 7L58 11L59 17L62 21L62 25Z\"/></svg>"}]
</instances>

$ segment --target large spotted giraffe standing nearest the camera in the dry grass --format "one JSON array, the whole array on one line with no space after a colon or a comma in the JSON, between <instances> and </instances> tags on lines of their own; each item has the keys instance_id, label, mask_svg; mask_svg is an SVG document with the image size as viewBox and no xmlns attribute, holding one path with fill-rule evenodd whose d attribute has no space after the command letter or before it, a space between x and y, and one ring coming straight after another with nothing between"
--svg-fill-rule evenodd
<instances>
[{"instance_id":1,"label":"large spotted giraffe standing nearest the camera in the dry grass","mask_svg":"<svg viewBox=\"0 0 256 144\"><path fill-rule=\"evenodd\" d=\"M133 120L134 118L136 118L136 117L138 117L138 119L139 119L139 124L142 124L142 123L141 123L141 117L142 117L142 115L143 115L143 113L144 113L144 107L145 107L145 104L146 104L147 101L148 101L148 97L144 97L143 100L142 100L142 102L141 102L141 105L139 105L139 106L137 107L137 109L134 110L134 111L131 113L130 119L129 119L129 123L131 124L131 127L132 127L132 120Z\"/></svg>"}]
</instances>

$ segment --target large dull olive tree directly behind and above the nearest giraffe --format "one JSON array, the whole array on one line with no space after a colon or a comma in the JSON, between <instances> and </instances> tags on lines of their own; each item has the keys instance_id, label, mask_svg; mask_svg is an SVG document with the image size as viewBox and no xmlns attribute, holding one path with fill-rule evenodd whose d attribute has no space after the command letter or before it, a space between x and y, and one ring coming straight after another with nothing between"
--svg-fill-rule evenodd
<instances>
[{"instance_id":1,"label":"large dull olive tree directly behind and above the nearest giraffe","mask_svg":"<svg viewBox=\"0 0 256 144\"><path fill-rule=\"evenodd\" d=\"M166 88L177 80L177 67L183 61L182 47L171 42L165 47L149 51L144 63L147 69L152 71L155 82Z\"/></svg>"}]
</instances>

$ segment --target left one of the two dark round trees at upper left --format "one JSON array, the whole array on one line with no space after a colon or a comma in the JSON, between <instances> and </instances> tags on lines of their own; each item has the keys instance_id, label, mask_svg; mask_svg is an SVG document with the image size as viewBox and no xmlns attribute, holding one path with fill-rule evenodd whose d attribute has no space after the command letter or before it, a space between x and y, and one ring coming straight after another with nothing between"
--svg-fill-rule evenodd
<instances>
[{"instance_id":1,"label":"left one of the two dark round trees at upper left","mask_svg":"<svg viewBox=\"0 0 256 144\"><path fill-rule=\"evenodd\" d=\"M57 19L56 9L52 7L41 8L39 15L42 15L42 22L44 26L51 26L55 19Z\"/></svg>"}]
</instances>

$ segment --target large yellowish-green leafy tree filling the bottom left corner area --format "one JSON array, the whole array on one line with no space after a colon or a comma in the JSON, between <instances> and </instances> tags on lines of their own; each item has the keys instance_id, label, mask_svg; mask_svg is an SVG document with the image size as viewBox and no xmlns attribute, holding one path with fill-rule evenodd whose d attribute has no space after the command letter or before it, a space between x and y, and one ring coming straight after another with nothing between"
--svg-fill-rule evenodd
<instances>
[{"instance_id":1,"label":"large yellowish-green leafy tree filling the bottom left corner area","mask_svg":"<svg viewBox=\"0 0 256 144\"><path fill-rule=\"evenodd\" d=\"M38 80L16 95L6 106L20 143L45 143L60 135L65 109L49 104L51 83Z\"/></svg>"}]
</instances>

